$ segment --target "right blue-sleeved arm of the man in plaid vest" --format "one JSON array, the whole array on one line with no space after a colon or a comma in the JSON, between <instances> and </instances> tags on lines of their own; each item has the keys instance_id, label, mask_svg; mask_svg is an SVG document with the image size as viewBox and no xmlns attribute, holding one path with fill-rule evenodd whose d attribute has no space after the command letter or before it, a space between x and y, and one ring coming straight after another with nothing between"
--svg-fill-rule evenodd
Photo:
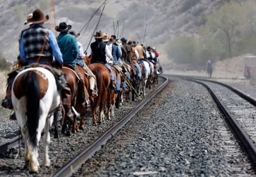
<instances>
[{"instance_id":1,"label":"right blue-sleeved arm of the man in plaid vest","mask_svg":"<svg viewBox=\"0 0 256 177\"><path fill-rule=\"evenodd\" d=\"M59 64L63 64L63 59L62 59L62 53L60 52L59 45L57 44L56 38L53 35L52 31L49 30L49 43L52 48L52 54L55 57L55 60L59 62Z\"/></svg>"}]
</instances>

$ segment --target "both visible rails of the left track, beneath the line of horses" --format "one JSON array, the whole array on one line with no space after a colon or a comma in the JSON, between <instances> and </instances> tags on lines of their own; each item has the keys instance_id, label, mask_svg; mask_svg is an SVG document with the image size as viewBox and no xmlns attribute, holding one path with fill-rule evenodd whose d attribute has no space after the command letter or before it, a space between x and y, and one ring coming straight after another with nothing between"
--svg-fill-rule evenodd
<instances>
[{"instance_id":1,"label":"both visible rails of the left track, beneath the line of horses","mask_svg":"<svg viewBox=\"0 0 256 177\"><path fill-rule=\"evenodd\" d=\"M155 95L157 95L168 83L168 79L166 77L161 77L163 81L162 85L160 85L157 89L154 89L149 95L147 95L143 101L141 101L136 107L134 107L129 113L123 117L122 119L119 119L117 123L114 123L114 125L111 125L109 129L105 130L104 133L101 133L101 136L97 137L96 140L91 142L89 145L86 145L85 149L81 151L81 153L74 155L69 162L65 162L64 165L58 165L59 170L56 171L54 174L51 172L51 175L53 176L61 176L61 175L71 175L76 169L78 169L82 163L86 161L89 157L95 153L98 149L101 148L101 145L104 144L110 137L113 136L115 132L117 132L118 129L120 129L123 125L127 123L131 119L135 113L137 113L145 104L147 104L152 98L154 98ZM97 128L97 127L96 127ZM94 127L94 129L96 129ZM8 142L2 143L2 150L6 151L7 149L10 149L12 147L16 147L19 145L20 138L15 137L11 139ZM40 146L40 145L39 145ZM22 150L21 150L22 151ZM52 170L51 170L52 171Z\"/></svg>"}]
</instances>

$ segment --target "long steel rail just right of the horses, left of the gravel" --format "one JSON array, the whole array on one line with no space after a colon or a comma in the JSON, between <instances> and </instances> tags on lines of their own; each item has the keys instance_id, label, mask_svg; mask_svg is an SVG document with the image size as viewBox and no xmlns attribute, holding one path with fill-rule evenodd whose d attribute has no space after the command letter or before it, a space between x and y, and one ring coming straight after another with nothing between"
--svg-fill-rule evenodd
<instances>
[{"instance_id":1,"label":"long steel rail just right of the horses, left of the gravel","mask_svg":"<svg viewBox=\"0 0 256 177\"><path fill-rule=\"evenodd\" d=\"M156 96L160 91L163 90L164 87L166 87L168 83L168 78L160 76L165 79L164 83L158 87L157 90L152 92L150 95L148 95L146 98L143 99L143 102L139 103L138 106L133 108L131 112L120 119L116 124L114 124L112 127L110 127L108 130L106 130L100 137L98 137L94 142L92 142L89 146L87 146L83 151L81 151L79 154L77 154L71 161L66 163L63 167L61 167L59 170L55 172L52 176L71 176L73 172L79 170L81 165L87 161L90 157L93 156L96 151L101 149L101 146L106 143L106 141L109 140L110 137L112 137L117 130L121 129L123 125L127 123L139 110L141 110L154 96Z\"/></svg>"}]
</instances>

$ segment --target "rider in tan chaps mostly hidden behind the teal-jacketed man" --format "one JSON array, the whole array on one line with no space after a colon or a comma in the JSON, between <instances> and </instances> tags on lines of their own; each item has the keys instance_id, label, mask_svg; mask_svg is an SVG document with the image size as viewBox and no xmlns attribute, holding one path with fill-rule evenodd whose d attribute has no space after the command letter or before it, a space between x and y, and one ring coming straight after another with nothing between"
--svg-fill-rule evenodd
<instances>
[{"instance_id":1,"label":"rider in tan chaps mostly hidden behind the teal-jacketed man","mask_svg":"<svg viewBox=\"0 0 256 177\"><path fill-rule=\"evenodd\" d=\"M74 30L69 31L69 33L71 33L71 35L73 35L75 37L80 36L80 33L76 34L76 32ZM82 67L82 69L84 69L85 73L88 75L89 85L90 85L90 95L92 95L92 97L95 97L95 96L97 96L97 92L94 91L94 90L96 90L96 77L92 73L92 71L88 68L88 66L85 64L84 58L85 58L86 54L84 53L82 44L79 43L79 41L77 41L77 45L79 46L79 54L78 54L78 57L76 58L76 62L79 63L79 65Z\"/></svg>"}]
</instances>

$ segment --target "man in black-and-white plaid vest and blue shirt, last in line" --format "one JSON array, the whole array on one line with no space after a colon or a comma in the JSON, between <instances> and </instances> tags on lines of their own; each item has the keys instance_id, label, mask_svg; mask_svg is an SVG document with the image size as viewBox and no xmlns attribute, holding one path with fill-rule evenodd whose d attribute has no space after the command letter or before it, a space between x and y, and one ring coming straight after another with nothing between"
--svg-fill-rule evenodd
<instances>
[{"instance_id":1,"label":"man in black-and-white plaid vest and blue shirt, last in line","mask_svg":"<svg viewBox=\"0 0 256 177\"><path fill-rule=\"evenodd\" d=\"M32 18L27 20L26 24L32 24L30 28L22 31L19 45L19 61L23 65L37 63L53 66L52 56L54 56L56 67L62 67L63 58L55 36L50 29L43 27L44 22L48 19L48 15L44 16L40 9L36 9L32 14ZM13 104L11 103L11 86L14 78L15 74L9 75L6 96L2 100L2 106L8 109L13 108Z\"/></svg>"}]
</instances>

